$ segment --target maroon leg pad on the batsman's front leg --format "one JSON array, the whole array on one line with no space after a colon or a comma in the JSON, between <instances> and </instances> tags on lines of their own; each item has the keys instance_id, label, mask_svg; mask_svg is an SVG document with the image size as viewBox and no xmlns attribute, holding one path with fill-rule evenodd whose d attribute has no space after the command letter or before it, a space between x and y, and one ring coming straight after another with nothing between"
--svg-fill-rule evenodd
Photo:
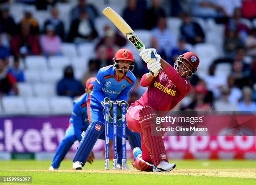
<instances>
[{"instance_id":1,"label":"maroon leg pad on the batsman's front leg","mask_svg":"<svg viewBox=\"0 0 256 185\"><path fill-rule=\"evenodd\" d=\"M168 162L164 140L161 132L156 130L156 117L156 112L150 106L143 106L139 113L143 143L152 157L154 166L157 166L162 160Z\"/></svg>"}]
</instances>

